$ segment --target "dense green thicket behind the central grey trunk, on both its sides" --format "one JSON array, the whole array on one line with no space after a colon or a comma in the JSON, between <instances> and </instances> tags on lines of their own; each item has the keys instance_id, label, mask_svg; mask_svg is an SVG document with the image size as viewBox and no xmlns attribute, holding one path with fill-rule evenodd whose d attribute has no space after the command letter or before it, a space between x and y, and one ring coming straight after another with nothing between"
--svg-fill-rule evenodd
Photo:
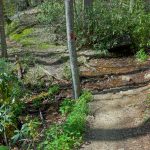
<instances>
[{"instance_id":1,"label":"dense green thicket behind the central grey trunk, on both its sides","mask_svg":"<svg viewBox=\"0 0 150 150\"><path fill-rule=\"evenodd\" d=\"M132 13L129 11L129 0L96 0L92 10L83 9L82 1L75 1L74 4L76 43L79 48L92 47L106 53L118 45L131 44L135 50L150 45L150 12L145 10L142 0L135 1ZM58 33L66 35L63 1L46 1L40 9L40 21L52 27L58 25L61 31Z\"/></svg>"}]
</instances>

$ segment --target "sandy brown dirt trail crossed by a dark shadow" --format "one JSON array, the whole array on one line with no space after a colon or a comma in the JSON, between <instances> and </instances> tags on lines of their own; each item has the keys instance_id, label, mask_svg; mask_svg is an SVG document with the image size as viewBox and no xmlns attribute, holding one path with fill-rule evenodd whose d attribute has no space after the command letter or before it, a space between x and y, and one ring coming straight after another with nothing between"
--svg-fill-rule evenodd
<instances>
[{"instance_id":1,"label":"sandy brown dirt trail crossed by a dark shadow","mask_svg":"<svg viewBox=\"0 0 150 150\"><path fill-rule=\"evenodd\" d=\"M143 123L148 88L94 95L81 150L150 150L150 123Z\"/></svg>"}]
</instances>

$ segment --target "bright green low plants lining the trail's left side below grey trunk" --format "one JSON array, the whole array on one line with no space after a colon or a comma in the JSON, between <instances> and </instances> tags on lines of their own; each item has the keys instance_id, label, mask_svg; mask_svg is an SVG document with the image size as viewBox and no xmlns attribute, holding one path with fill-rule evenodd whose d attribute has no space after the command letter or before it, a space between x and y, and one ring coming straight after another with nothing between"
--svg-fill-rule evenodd
<instances>
[{"instance_id":1,"label":"bright green low plants lining the trail's left side below grey trunk","mask_svg":"<svg viewBox=\"0 0 150 150\"><path fill-rule=\"evenodd\" d=\"M78 100L65 100L60 111L69 113L66 121L61 125L53 125L46 131L45 140L39 149L45 150L71 150L77 148L82 142L86 115L88 113L87 103L92 99L89 92L84 92ZM70 108L69 108L69 104Z\"/></svg>"}]
</instances>

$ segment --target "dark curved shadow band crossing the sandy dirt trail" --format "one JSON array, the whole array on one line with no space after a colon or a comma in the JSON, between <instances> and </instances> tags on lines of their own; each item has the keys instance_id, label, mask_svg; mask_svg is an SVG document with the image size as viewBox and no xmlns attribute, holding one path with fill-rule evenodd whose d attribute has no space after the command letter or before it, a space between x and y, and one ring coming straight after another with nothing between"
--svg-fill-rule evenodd
<instances>
[{"instance_id":1,"label":"dark curved shadow band crossing the sandy dirt trail","mask_svg":"<svg viewBox=\"0 0 150 150\"><path fill-rule=\"evenodd\" d=\"M90 141L121 141L150 134L150 118L142 125L123 129L90 129Z\"/></svg>"}]
</instances>

